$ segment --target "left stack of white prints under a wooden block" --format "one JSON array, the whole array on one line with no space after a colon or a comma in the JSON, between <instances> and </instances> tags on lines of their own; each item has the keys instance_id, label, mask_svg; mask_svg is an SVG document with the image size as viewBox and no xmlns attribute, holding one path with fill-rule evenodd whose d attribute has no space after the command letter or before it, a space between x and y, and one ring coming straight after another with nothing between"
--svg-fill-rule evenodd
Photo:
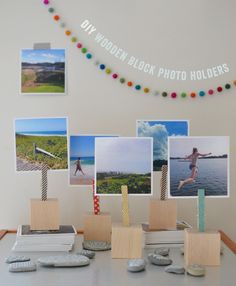
<instances>
[{"instance_id":1,"label":"left stack of white prints under a wooden block","mask_svg":"<svg viewBox=\"0 0 236 286\"><path fill-rule=\"evenodd\" d=\"M59 230L30 230L29 225L17 229L13 251L70 251L76 230L72 225L60 225Z\"/></svg>"}]
</instances>

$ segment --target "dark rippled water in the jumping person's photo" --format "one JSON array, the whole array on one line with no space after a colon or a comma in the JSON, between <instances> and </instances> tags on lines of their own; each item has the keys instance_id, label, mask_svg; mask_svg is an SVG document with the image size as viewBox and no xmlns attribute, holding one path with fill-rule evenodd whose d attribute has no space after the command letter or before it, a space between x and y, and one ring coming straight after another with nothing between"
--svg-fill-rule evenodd
<instances>
[{"instance_id":1,"label":"dark rippled water in the jumping person's photo","mask_svg":"<svg viewBox=\"0 0 236 286\"><path fill-rule=\"evenodd\" d=\"M195 182L184 185L178 190L180 180L188 178L191 174L190 162L170 160L170 195L171 196L197 196L198 189L205 189L207 196L227 196L228 188L228 159L198 159L198 175Z\"/></svg>"}]
</instances>

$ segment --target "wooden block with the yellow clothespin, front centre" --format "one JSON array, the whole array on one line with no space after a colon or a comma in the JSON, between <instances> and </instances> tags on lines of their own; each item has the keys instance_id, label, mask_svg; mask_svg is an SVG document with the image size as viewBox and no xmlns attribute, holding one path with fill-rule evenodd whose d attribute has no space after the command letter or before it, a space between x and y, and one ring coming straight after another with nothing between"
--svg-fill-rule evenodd
<instances>
[{"instance_id":1,"label":"wooden block with the yellow clothespin, front centre","mask_svg":"<svg viewBox=\"0 0 236 286\"><path fill-rule=\"evenodd\" d=\"M112 226L112 258L142 258L143 233L141 226Z\"/></svg>"}]
</instances>

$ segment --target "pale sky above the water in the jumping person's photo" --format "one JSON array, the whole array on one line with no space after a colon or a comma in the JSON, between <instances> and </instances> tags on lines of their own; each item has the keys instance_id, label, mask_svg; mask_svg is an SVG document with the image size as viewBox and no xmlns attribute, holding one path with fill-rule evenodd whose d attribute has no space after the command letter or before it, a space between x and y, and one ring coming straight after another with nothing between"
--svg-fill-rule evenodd
<instances>
[{"instance_id":1,"label":"pale sky above the water in the jumping person's photo","mask_svg":"<svg viewBox=\"0 0 236 286\"><path fill-rule=\"evenodd\" d=\"M184 158L192 154L193 148L197 148L201 154L212 153L211 156L220 156L229 153L229 138L216 137L185 137L170 138L170 157Z\"/></svg>"}]
</instances>

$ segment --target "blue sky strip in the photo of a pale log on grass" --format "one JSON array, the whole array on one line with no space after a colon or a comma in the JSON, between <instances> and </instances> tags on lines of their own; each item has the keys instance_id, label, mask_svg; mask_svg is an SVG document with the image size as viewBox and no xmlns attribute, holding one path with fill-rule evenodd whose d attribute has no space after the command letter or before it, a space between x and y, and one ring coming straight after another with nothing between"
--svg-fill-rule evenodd
<instances>
[{"instance_id":1,"label":"blue sky strip in the photo of a pale log on grass","mask_svg":"<svg viewBox=\"0 0 236 286\"><path fill-rule=\"evenodd\" d=\"M30 118L16 119L15 132L37 132L37 131L66 131L66 118Z\"/></svg>"}]
</instances>

